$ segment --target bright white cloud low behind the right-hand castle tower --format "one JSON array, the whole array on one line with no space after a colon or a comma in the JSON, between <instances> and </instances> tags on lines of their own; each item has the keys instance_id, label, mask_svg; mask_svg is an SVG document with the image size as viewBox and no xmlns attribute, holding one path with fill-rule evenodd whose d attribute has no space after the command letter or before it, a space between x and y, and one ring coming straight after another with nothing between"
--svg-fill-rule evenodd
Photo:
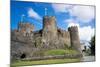
<instances>
[{"instance_id":1,"label":"bright white cloud low behind the right-hand castle tower","mask_svg":"<svg viewBox=\"0 0 100 67\"><path fill-rule=\"evenodd\" d=\"M71 19L68 20L67 23L68 23L68 27L71 26L78 27L80 40L90 41L91 37L95 34L95 30L91 26L80 27L78 23L73 22L73 20Z\"/></svg>"}]
</instances>

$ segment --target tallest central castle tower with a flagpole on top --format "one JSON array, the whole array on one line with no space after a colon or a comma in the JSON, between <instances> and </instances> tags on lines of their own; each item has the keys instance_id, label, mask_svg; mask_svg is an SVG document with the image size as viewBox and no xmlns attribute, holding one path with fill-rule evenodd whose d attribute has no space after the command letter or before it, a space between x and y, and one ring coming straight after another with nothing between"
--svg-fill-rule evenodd
<instances>
[{"instance_id":1,"label":"tallest central castle tower with a flagpole on top","mask_svg":"<svg viewBox=\"0 0 100 67\"><path fill-rule=\"evenodd\" d=\"M56 19L54 16L43 17L43 38L46 40L53 40L57 36Z\"/></svg>"}]
</instances>

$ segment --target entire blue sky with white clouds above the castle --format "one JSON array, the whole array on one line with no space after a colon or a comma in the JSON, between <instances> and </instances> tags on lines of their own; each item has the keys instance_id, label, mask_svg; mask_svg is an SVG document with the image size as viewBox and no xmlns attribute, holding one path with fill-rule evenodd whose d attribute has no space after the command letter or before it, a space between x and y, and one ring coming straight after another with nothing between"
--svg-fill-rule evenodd
<instances>
[{"instance_id":1,"label":"entire blue sky with white clouds above the castle","mask_svg":"<svg viewBox=\"0 0 100 67\"><path fill-rule=\"evenodd\" d=\"M40 30L45 12L56 17L58 28L67 30L70 26L78 26L80 40L90 41L95 34L95 6L61 3L11 1L11 29L17 29L18 22L23 21Z\"/></svg>"}]
</instances>

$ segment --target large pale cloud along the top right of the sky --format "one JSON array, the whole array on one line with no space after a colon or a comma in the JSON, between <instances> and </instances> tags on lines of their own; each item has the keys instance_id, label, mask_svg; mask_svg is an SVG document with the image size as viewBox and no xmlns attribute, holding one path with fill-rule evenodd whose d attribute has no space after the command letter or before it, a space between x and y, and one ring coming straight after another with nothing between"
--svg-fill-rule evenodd
<instances>
[{"instance_id":1,"label":"large pale cloud along the top right of the sky","mask_svg":"<svg viewBox=\"0 0 100 67\"><path fill-rule=\"evenodd\" d=\"M52 4L52 7L56 13L69 12L70 16L76 17L77 20L85 23L95 18L94 6Z\"/></svg>"}]
</instances>

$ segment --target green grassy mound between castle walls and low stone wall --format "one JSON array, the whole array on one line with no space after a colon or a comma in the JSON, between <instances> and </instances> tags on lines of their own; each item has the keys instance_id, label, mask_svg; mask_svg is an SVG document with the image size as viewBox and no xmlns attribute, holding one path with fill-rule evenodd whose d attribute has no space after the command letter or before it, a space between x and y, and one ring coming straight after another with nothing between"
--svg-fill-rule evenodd
<instances>
[{"instance_id":1,"label":"green grassy mound between castle walls and low stone wall","mask_svg":"<svg viewBox=\"0 0 100 67\"><path fill-rule=\"evenodd\" d=\"M73 49L55 49L55 50L48 50L44 53L44 55L65 55L65 54L78 54L77 51L73 50Z\"/></svg>"}]
</instances>

